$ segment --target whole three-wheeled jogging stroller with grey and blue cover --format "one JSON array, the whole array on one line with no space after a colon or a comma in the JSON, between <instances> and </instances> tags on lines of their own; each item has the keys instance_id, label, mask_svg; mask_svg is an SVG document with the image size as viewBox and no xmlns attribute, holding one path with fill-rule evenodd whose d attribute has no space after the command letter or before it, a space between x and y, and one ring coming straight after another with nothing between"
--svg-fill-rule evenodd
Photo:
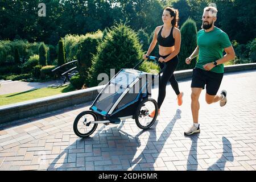
<instances>
[{"instance_id":1,"label":"whole three-wheeled jogging stroller with grey and blue cover","mask_svg":"<svg viewBox=\"0 0 256 182\"><path fill-rule=\"evenodd\" d=\"M154 61L159 59L155 56L147 58ZM155 75L135 69L143 61L133 69L121 69L101 90L89 110L77 115L73 130L78 137L88 137L96 130L99 123L118 124L125 119L133 118L137 126L143 130L154 124L158 116L158 104L150 97ZM165 68L166 64L159 72L159 82L160 73ZM154 117L150 117L150 113L154 110Z\"/></svg>"}]
</instances>

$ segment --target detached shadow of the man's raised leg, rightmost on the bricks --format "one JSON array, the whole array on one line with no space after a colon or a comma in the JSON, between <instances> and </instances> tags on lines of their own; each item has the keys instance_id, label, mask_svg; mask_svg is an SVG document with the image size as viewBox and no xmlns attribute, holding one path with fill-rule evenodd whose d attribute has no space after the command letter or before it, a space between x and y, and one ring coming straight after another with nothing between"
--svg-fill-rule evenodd
<instances>
[{"instance_id":1,"label":"detached shadow of the man's raised leg, rightmost on the bricks","mask_svg":"<svg viewBox=\"0 0 256 182\"><path fill-rule=\"evenodd\" d=\"M222 137L222 144L223 144L223 152L221 158L217 160L212 166L210 166L207 170L208 171L224 171L225 164L228 161L233 162L234 156L232 152L232 144L226 137Z\"/></svg>"}]
</instances>

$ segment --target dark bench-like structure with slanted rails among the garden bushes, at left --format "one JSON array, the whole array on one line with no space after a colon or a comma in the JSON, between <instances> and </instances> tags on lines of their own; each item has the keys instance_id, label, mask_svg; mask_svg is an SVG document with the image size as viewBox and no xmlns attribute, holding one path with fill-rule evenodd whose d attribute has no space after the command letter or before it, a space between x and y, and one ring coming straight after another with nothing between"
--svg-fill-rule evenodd
<instances>
[{"instance_id":1,"label":"dark bench-like structure with slanted rails among the garden bushes, at left","mask_svg":"<svg viewBox=\"0 0 256 182\"><path fill-rule=\"evenodd\" d=\"M78 73L77 66L74 67L73 65L76 62L77 60L69 61L68 63L65 63L55 69L52 69L52 72L55 72L55 74L59 77L63 77L64 78L63 84L65 84L67 80L69 81L72 76Z\"/></svg>"}]
</instances>

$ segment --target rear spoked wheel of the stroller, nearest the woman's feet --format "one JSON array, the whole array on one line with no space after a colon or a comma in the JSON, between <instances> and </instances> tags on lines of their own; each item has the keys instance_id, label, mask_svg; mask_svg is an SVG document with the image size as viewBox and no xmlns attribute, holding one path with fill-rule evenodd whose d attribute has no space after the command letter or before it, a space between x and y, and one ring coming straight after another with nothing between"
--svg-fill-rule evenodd
<instances>
[{"instance_id":1,"label":"rear spoked wheel of the stroller, nearest the woman's feet","mask_svg":"<svg viewBox=\"0 0 256 182\"><path fill-rule=\"evenodd\" d=\"M149 117L149 114L152 113L152 111L154 110L155 110L154 117L153 118ZM139 103L136 114L135 114L136 125L140 129L143 129L143 130L148 129L154 124L157 116L158 116L157 102L152 98L147 98L145 100L142 100L141 103Z\"/></svg>"}]
</instances>

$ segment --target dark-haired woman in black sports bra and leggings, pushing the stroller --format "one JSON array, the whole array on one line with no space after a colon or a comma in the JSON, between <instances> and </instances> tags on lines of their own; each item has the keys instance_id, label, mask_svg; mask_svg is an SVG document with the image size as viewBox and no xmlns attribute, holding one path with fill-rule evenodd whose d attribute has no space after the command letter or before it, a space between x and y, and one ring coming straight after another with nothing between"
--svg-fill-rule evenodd
<instances>
[{"instance_id":1,"label":"dark-haired woman in black sports bra and leggings, pushing the stroller","mask_svg":"<svg viewBox=\"0 0 256 182\"><path fill-rule=\"evenodd\" d=\"M182 105L183 92L179 91L179 85L174 76L174 71L178 64L177 54L180 52L180 30L177 26L179 20L179 11L171 7L166 7L162 15L163 26L155 28L154 38L148 48L146 55L143 55L143 59L150 55L152 50L155 48L156 43L159 44L159 64L163 68L163 62L166 63L166 69L161 76L159 83L158 93L158 114L160 114L160 107L166 97L166 85L167 82L171 82L171 86L177 95L177 104ZM150 114L150 117L154 117L155 111Z\"/></svg>"}]
</instances>

